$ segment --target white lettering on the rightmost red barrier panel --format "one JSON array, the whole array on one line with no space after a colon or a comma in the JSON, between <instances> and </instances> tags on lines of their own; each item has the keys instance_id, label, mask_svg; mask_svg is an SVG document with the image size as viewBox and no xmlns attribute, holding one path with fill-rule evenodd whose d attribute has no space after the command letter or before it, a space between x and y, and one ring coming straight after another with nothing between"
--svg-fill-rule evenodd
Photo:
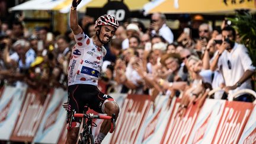
<instances>
[{"instance_id":1,"label":"white lettering on the rightmost red barrier panel","mask_svg":"<svg viewBox=\"0 0 256 144\"><path fill-rule=\"evenodd\" d=\"M249 117L251 110L246 110L245 115L241 121L238 122L238 118L241 115L241 111L235 111L233 108L225 108L222 121L219 124L219 129L215 137L215 144L217 143L237 143L239 133L242 130L242 126L245 124L245 120Z\"/></svg>"}]
</instances>

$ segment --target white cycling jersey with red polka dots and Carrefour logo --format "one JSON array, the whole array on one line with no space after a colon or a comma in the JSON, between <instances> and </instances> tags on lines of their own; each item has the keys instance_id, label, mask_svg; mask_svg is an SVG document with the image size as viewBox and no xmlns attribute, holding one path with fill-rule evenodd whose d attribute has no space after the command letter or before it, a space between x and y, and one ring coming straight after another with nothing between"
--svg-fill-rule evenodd
<instances>
[{"instance_id":1,"label":"white cycling jersey with red polka dots and Carrefour logo","mask_svg":"<svg viewBox=\"0 0 256 144\"><path fill-rule=\"evenodd\" d=\"M76 44L72 49L68 67L68 85L98 85L105 47L98 47L83 32L75 35Z\"/></svg>"}]
</instances>

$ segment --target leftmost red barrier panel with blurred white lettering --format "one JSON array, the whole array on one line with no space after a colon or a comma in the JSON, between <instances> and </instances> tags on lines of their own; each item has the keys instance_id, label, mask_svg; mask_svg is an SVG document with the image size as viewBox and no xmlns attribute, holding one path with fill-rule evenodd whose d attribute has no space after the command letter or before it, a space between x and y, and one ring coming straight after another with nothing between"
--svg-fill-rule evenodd
<instances>
[{"instance_id":1,"label":"leftmost red barrier panel with blurred white lettering","mask_svg":"<svg viewBox=\"0 0 256 144\"><path fill-rule=\"evenodd\" d=\"M41 95L39 91L27 89L23 108L12 132L12 141L33 141L51 98L52 92L47 95Z\"/></svg>"}]
</instances>

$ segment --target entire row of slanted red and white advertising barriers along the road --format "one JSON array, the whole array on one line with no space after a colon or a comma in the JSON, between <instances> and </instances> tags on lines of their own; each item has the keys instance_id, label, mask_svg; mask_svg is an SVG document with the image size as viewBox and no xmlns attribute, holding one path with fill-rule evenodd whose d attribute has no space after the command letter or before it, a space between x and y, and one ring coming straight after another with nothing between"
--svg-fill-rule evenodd
<instances>
[{"instance_id":1,"label":"entire row of slanted red and white advertising barriers along the road","mask_svg":"<svg viewBox=\"0 0 256 144\"><path fill-rule=\"evenodd\" d=\"M109 95L120 113L116 132L108 133L103 143L256 143L252 103L207 99L203 107L192 104L181 113L178 98L158 95L153 104L150 95ZM66 91L59 88L45 96L30 88L2 88L0 140L65 143L66 99ZM95 121L94 136L102 121Z\"/></svg>"}]
</instances>

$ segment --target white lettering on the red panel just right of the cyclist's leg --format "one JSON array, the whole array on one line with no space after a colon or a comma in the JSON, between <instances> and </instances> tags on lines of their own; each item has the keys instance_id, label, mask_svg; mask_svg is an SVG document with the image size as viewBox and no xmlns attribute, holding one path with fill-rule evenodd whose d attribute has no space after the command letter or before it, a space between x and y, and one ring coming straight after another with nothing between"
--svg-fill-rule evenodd
<instances>
[{"instance_id":1,"label":"white lettering on the red panel just right of the cyclist's leg","mask_svg":"<svg viewBox=\"0 0 256 144\"><path fill-rule=\"evenodd\" d=\"M140 101L134 101L132 99L124 100L123 113L120 114L116 129L116 134L113 136L113 143L135 143L137 133L140 130L141 124L143 123L143 114L146 111L150 101L144 101L142 110L139 110Z\"/></svg>"}]
</instances>

